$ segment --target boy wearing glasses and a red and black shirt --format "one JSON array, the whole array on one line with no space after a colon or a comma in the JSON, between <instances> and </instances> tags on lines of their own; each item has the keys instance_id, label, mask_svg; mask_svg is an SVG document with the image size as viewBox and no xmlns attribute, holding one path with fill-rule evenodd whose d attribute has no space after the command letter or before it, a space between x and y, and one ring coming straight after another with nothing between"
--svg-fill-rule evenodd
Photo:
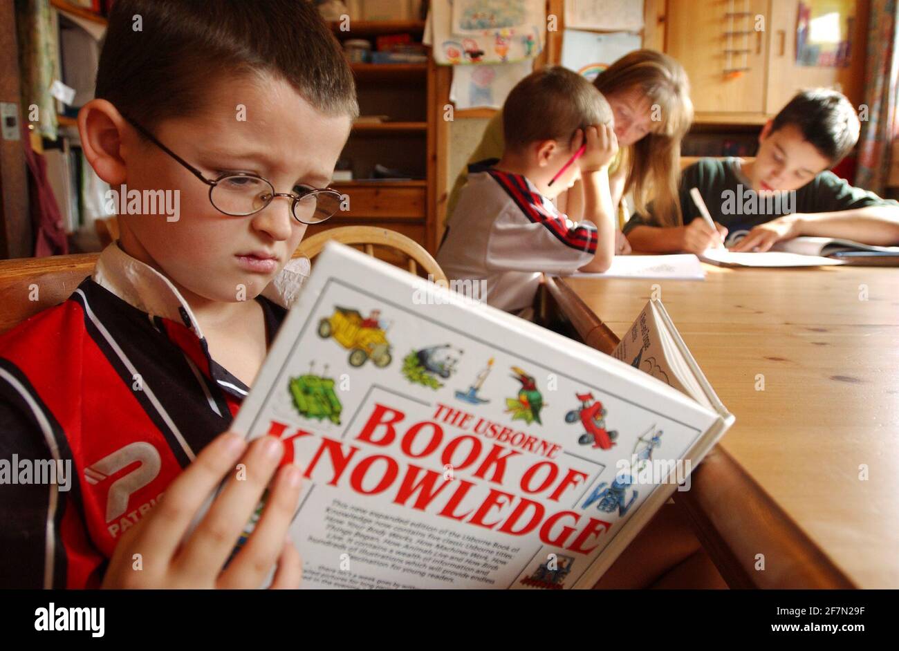
<instances>
[{"instance_id":1,"label":"boy wearing glasses and a red and black shirt","mask_svg":"<svg viewBox=\"0 0 899 651\"><path fill-rule=\"evenodd\" d=\"M4 587L251 587L273 567L273 586L298 584L298 468L272 479L277 438L220 434L304 277L291 254L339 208L325 186L356 115L311 4L114 5L85 156L113 188L177 192L181 216L120 215L93 275L0 337L0 458L68 478L0 486Z\"/></svg>"}]
</instances>

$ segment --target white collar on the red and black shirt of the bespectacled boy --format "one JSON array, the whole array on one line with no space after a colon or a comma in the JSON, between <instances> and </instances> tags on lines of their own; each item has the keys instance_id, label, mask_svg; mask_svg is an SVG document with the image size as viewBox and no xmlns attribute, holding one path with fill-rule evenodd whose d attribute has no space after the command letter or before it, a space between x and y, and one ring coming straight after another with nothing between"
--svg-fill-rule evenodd
<instances>
[{"instance_id":1,"label":"white collar on the red and black shirt of the bespectacled boy","mask_svg":"<svg viewBox=\"0 0 899 651\"><path fill-rule=\"evenodd\" d=\"M262 295L289 309L298 298L299 290L309 275L309 268L308 258L289 260L278 276L263 289ZM172 281L155 268L122 251L118 242L112 242L103 249L92 277L95 283L141 312L184 323L198 338L203 339L200 324L191 311L191 306Z\"/></svg>"}]
</instances>

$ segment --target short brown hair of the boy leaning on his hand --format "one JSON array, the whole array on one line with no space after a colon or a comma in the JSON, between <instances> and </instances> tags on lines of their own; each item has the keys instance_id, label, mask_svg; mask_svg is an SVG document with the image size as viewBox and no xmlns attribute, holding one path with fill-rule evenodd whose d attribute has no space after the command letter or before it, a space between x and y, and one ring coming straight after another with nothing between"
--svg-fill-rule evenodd
<instances>
[{"instance_id":1,"label":"short brown hair of the boy leaning on his hand","mask_svg":"<svg viewBox=\"0 0 899 651\"><path fill-rule=\"evenodd\" d=\"M609 102L583 76L562 66L541 68L522 79L503 104L508 149L539 140L567 142L579 128L612 119Z\"/></svg>"}]
</instances>

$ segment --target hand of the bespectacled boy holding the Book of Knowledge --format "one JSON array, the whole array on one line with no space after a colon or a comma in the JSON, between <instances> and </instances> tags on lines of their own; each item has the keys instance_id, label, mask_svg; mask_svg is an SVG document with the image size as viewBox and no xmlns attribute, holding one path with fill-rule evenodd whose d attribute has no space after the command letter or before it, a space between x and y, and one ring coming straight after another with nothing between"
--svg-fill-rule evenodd
<instances>
[{"instance_id":1,"label":"hand of the bespectacled boy holding the Book of Knowledge","mask_svg":"<svg viewBox=\"0 0 899 651\"><path fill-rule=\"evenodd\" d=\"M165 490L162 500L125 532L110 559L104 588L253 588L276 569L272 588L298 587L299 553L287 538L297 510L301 471L278 471L283 444L261 436L247 444L227 432L207 445ZM185 539L200 507L242 464ZM277 477L271 481L276 474ZM271 490L253 533L227 568L236 542Z\"/></svg>"}]
</instances>

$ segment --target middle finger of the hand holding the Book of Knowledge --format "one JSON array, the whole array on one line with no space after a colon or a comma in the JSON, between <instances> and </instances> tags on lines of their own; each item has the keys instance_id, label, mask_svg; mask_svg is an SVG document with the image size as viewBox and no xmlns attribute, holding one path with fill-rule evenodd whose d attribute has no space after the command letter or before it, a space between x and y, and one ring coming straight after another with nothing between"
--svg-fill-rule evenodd
<instances>
[{"instance_id":1,"label":"middle finger of the hand holding the Book of Knowledge","mask_svg":"<svg viewBox=\"0 0 899 651\"><path fill-rule=\"evenodd\" d=\"M284 445L274 436L260 436L250 444L241 459L241 474L227 480L209 513L175 559L183 572L198 577L218 576L259 506L283 453Z\"/></svg>"}]
</instances>

